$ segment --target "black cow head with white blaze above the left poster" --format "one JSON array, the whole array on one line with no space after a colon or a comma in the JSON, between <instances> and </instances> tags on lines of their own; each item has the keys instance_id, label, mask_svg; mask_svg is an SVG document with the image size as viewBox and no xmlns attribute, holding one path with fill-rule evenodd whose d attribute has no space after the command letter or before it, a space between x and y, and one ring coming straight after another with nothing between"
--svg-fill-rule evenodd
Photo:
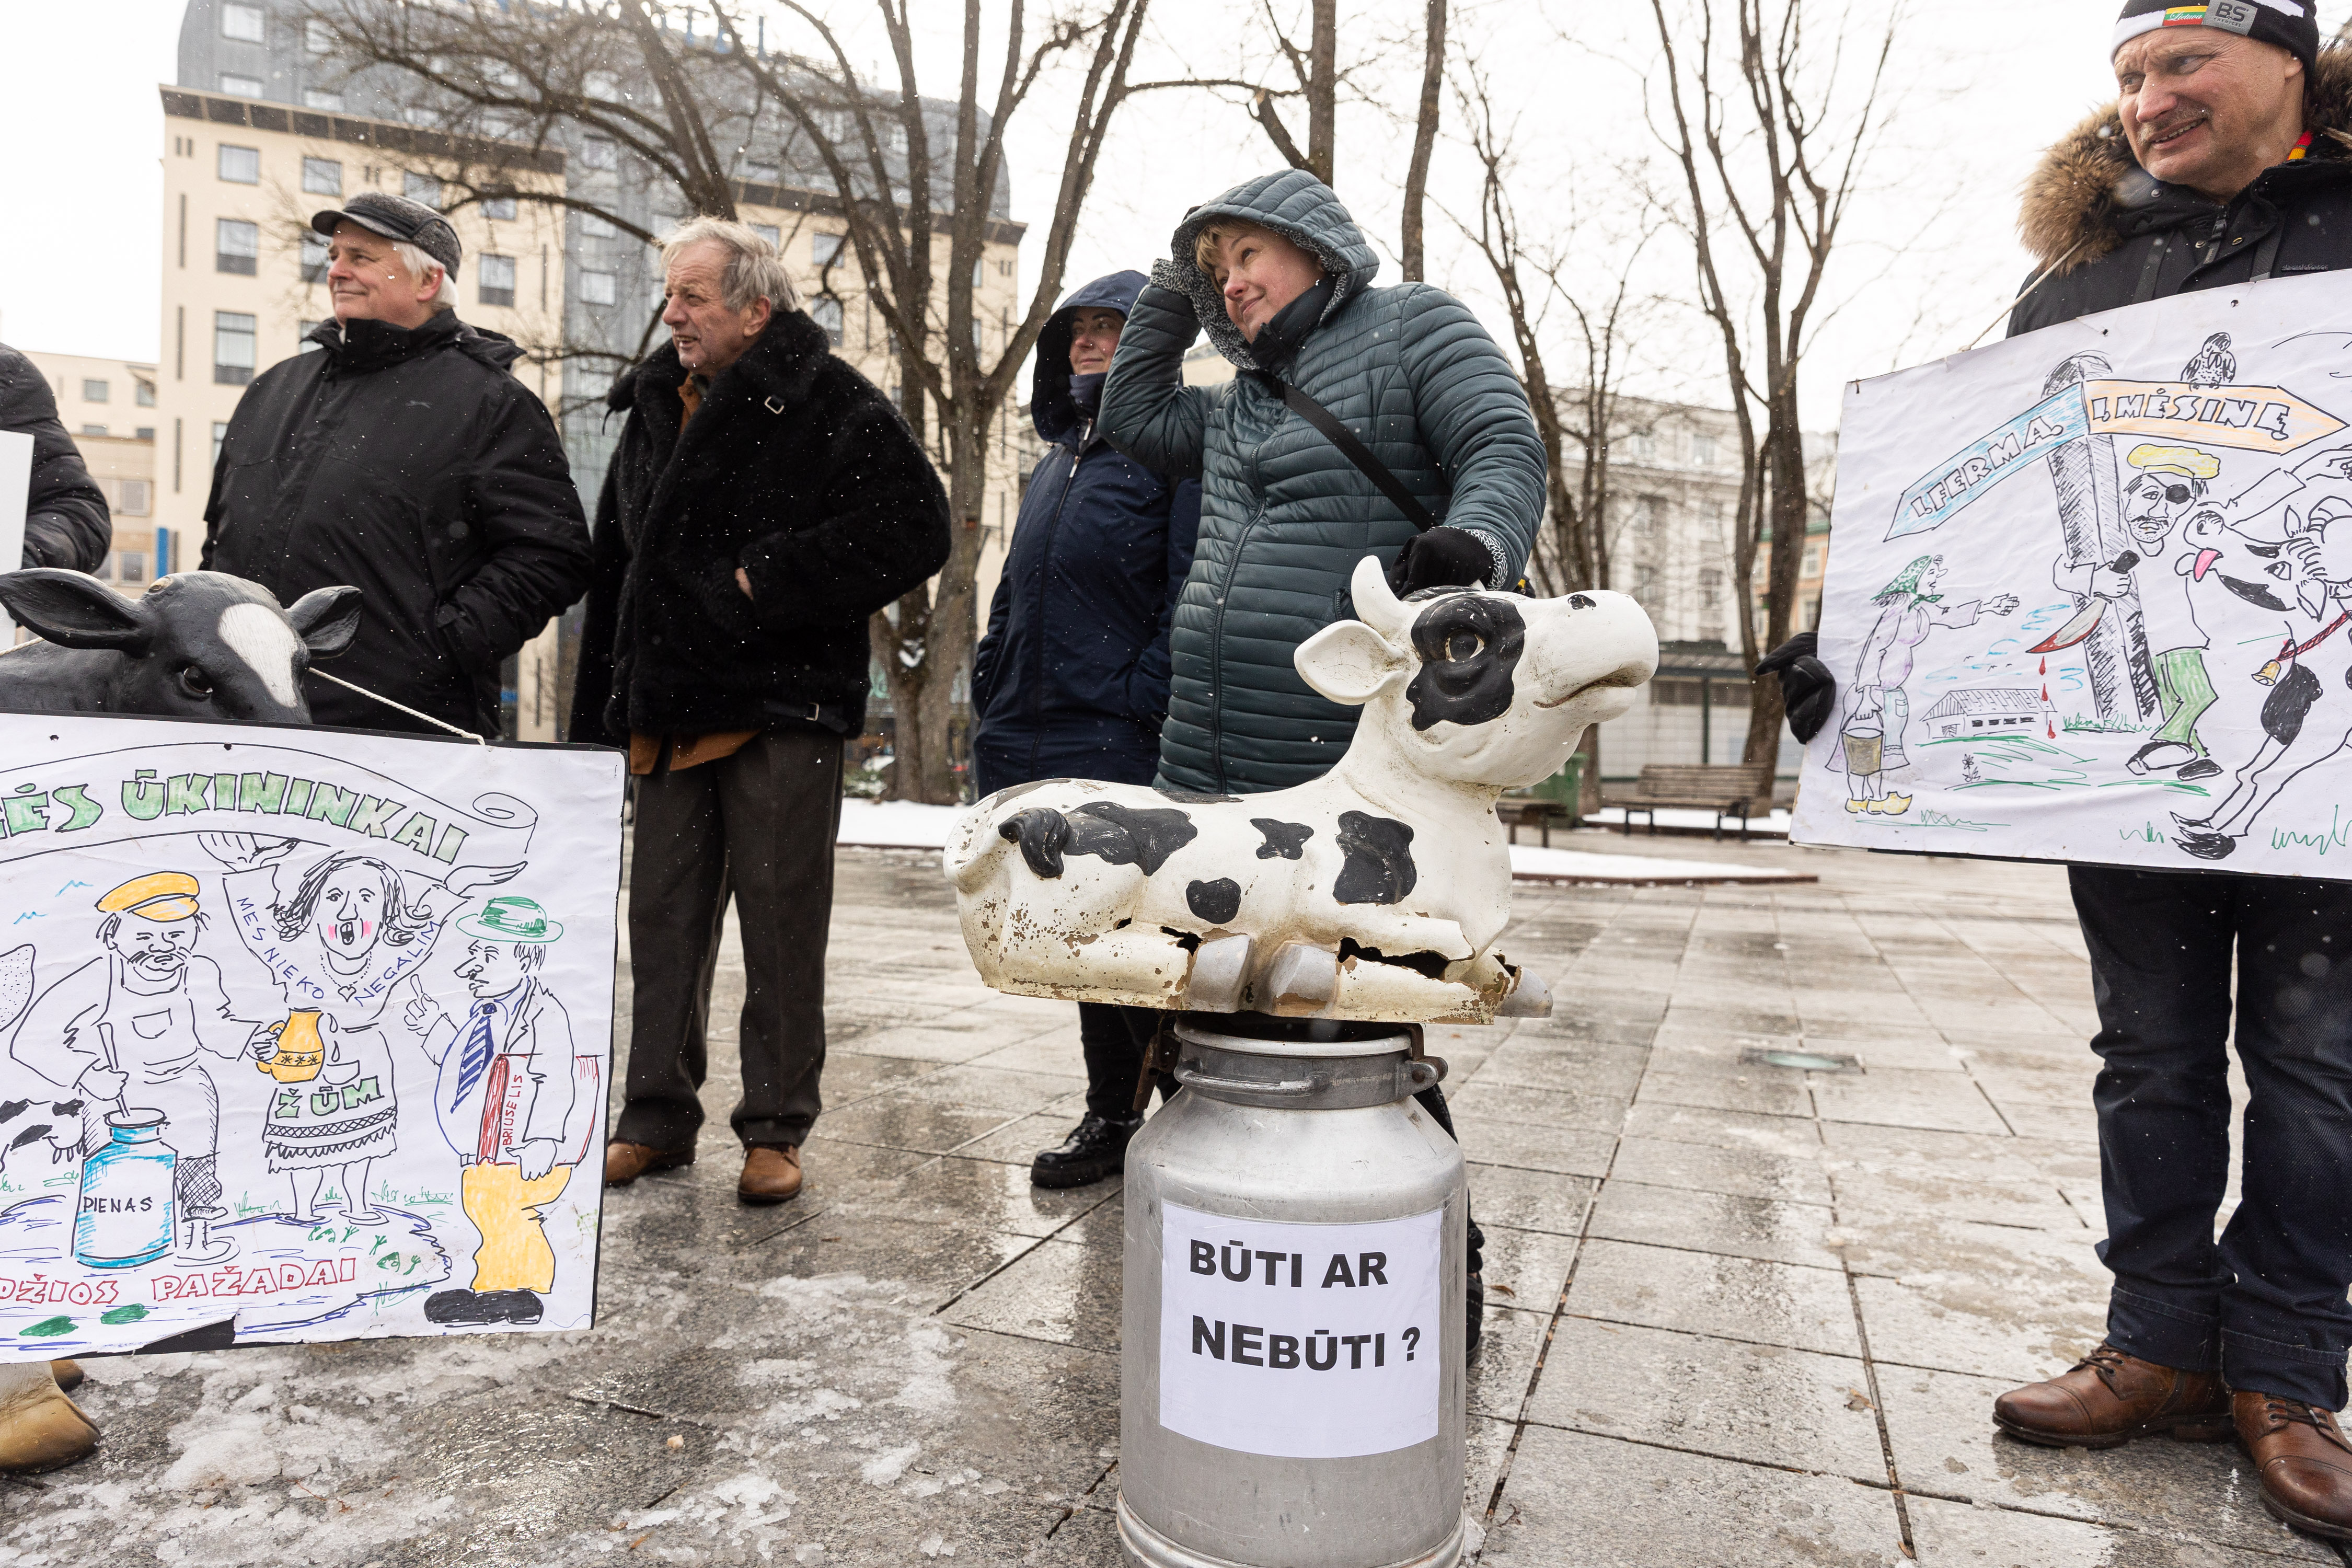
<instances>
[{"instance_id":1,"label":"black cow head with white blaze above the left poster","mask_svg":"<svg viewBox=\"0 0 2352 1568\"><path fill-rule=\"evenodd\" d=\"M360 630L360 590L289 609L240 576L174 571L136 599L80 571L0 574L0 607L54 649L0 656L0 708L308 724L301 672ZM47 654L47 656L42 656Z\"/></svg>"}]
</instances>

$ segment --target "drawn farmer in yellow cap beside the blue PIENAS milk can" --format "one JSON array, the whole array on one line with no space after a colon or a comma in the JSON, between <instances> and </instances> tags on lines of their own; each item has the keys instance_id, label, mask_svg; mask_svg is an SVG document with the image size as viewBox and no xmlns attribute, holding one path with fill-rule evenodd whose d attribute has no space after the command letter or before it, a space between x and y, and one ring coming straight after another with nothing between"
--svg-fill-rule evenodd
<instances>
[{"instance_id":1,"label":"drawn farmer in yellow cap beside the blue PIENAS milk can","mask_svg":"<svg viewBox=\"0 0 2352 1568\"><path fill-rule=\"evenodd\" d=\"M99 898L89 959L45 990L16 1027L9 1053L82 1100L82 1154L106 1143L106 1112L158 1110L160 1143L176 1161L174 1251L219 1262L235 1241L212 1239L221 1206L221 1093L207 1056L238 1060L266 1030L230 1013L221 966L195 952L205 929L198 882L186 872L132 877Z\"/></svg>"}]
</instances>

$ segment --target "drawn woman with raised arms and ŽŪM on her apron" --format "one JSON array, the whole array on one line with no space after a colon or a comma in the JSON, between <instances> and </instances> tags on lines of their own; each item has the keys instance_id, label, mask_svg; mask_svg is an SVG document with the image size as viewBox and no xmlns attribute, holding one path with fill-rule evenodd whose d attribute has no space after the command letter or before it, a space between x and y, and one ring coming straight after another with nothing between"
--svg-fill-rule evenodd
<instances>
[{"instance_id":1,"label":"drawn woman with raised arms and \u017d\u016aM on her apron","mask_svg":"<svg viewBox=\"0 0 2352 1568\"><path fill-rule=\"evenodd\" d=\"M238 936L287 1001L287 1020L254 1046L256 1067L278 1079L261 1150L292 1182L287 1218L315 1225L334 1171L343 1218L374 1225L383 1215L367 1201L369 1166L393 1152L400 1121L383 1004L475 889L522 867L452 870L412 898L383 860L339 851L313 860L292 896L280 896L275 860L292 839L207 832L198 842L228 867L221 891Z\"/></svg>"}]
</instances>

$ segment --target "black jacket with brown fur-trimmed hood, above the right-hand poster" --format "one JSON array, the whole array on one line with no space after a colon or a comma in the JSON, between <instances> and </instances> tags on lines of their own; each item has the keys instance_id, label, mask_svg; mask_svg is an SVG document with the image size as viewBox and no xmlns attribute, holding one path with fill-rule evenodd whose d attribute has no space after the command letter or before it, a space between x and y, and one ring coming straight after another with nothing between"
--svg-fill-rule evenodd
<instances>
[{"instance_id":1,"label":"black jacket with brown fur-trimmed hood, above the right-hand poster","mask_svg":"<svg viewBox=\"0 0 2352 1568\"><path fill-rule=\"evenodd\" d=\"M2009 336L2190 289L2230 289L2256 275L2333 273L2352 266L2352 47L2312 66L2310 153L2256 176L2227 202L2166 186L2131 155L2107 106L2042 158L2025 183L2018 230L2034 254L2034 284L2009 317Z\"/></svg>"}]
</instances>

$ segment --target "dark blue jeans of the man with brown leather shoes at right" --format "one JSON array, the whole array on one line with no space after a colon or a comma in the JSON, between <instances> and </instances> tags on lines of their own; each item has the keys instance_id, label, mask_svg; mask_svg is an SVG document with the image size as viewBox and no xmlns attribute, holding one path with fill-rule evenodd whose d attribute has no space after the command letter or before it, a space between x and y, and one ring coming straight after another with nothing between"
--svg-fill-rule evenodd
<instances>
[{"instance_id":1,"label":"dark blue jeans of the man with brown leather shoes at right","mask_svg":"<svg viewBox=\"0 0 2352 1568\"><path fill-rule=\"evenodd\" d=\"M2352 1347L2352 884L2070 867L2091 947L2107 1340L2340 1410ZM2246 1072L2230 1180L2230 957Z\"/></svg>"}]
</instances>

